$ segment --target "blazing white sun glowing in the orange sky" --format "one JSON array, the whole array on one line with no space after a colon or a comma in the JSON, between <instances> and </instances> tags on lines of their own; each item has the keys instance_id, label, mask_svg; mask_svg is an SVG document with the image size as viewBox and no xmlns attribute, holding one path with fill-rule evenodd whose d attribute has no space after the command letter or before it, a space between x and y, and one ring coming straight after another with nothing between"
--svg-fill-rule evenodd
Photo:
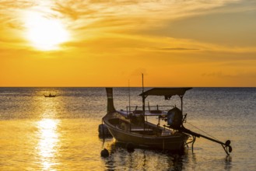
<instances>
[{"instance_id":1,"label":"blazing white sun glowing in the orange sky","mask_svg":"<svg viewBox=\"0 0 256 171\"><path fill-rule=\"evenodd\" d=\"M39 12L26 13L26 38L41 51L58 50L68 40L68 31L58 19L51 19Z\"/></svg>"}]
</instances>

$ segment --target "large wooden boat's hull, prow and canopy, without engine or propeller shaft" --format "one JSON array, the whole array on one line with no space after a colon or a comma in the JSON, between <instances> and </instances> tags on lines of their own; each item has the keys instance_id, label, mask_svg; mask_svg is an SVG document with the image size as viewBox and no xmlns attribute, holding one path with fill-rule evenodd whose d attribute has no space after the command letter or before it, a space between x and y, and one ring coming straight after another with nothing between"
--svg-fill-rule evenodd
<instances>
[{"instance_id":1,"label":"large wooden boat's hull, prow and canopy, without engine or propeller shaft","mask_svg":"<svg viewBox=\"0 0 256 171\"><path fill-rule=\"evenodd\" d=\"M168 113L181 110L175 106L149 106L146 110L146 96L160 96L163 92L166 96L181 95L188 88L184 89L153 89L152 93L143 92L143 106L128 106L127 110L117 111L114 109L113 90L107 88L107 114L103 117L103 123L107 125L110 134L117 141L129 143L135 146L160 148L164 150L181 150L184 148L189 135L181 131L170 130L169 127L161 127L160 120L167 119ZM161 107L169 108L168 110L160 110ZM135 110L133 110L135 108ZM139 110L142 109L142 110ZM153 124L147 121L147 117L159 117L158 124ZM182 121L182 116L180 122Z\"/></svg>"}]
</instances>

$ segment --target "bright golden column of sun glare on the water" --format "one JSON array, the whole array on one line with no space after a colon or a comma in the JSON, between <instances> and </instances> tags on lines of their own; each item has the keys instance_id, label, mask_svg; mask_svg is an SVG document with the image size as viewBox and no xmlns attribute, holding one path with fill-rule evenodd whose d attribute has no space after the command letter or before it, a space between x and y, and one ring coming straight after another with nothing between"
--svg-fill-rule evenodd
<instances>
[{"instance_id":1,"label":"bright golden column of sun glare on the water","mask_svg":"<svg viewBox=\"0 0 256 171\"><path fill-rule=\"evenodd\" d=\"M58 119L58 109L61 108L61 99L40 96L37 105L40 106L40 120L37 121L37 162L41 170L57 169L60 164L61 120Z\"/></svg>"}]
</instances>

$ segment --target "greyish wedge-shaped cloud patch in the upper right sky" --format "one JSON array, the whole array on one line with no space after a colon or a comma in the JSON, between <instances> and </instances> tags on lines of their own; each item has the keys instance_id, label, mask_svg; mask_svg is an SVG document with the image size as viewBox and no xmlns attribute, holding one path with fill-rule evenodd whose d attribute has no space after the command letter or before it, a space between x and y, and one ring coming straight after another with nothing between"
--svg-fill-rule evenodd
<instances>
[{"instance_id":1,"label":"greyish wedge-shaped cloud patch in the upper right sky","mask_svg":"<svg viewBox=\"0 0 256 171\"><path fill-rule=\"evenodd\" d=\"M230 47L256 46L255 1L233 1L212 9L192 11L188 12L191 15L169 18L160 27L150 28L148 33Z\"/></svg>"}]
</instances>

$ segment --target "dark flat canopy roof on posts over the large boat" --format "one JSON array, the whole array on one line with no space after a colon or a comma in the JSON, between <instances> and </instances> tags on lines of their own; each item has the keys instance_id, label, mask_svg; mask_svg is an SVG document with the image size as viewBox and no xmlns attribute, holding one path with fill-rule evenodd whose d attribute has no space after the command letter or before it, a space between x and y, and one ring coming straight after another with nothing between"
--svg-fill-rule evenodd
<instances>
[{"instance_id":1,"label":"dark flat canopy roof on posts over the large boat","mask_svg":"<svg viewBox=\"0 0 256 171\"><path fill-rule=\"evenodd\" d=\"M184 96L185 92L192 88L153 88L146 92L142 92L139 96L164 96L165 99L170 99L171 96Z\"/></svg>"}]
</instances>

